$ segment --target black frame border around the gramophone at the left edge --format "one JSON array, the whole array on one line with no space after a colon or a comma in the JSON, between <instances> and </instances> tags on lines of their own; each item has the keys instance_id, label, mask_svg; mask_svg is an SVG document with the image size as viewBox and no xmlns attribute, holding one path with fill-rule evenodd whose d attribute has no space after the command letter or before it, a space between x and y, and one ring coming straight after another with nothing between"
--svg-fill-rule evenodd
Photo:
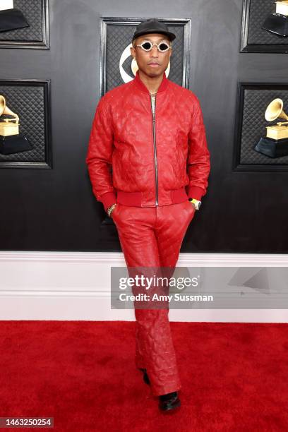
<instances>
[{"instance_id":1,"label":"black frame border around the gramophone at the left edge","mask_svg":"<svg viewBox=\"0 0 288 432\"><path fill-rule=\"evenodd\" d=\"M51 140L51 80L11 80L2 78L0 85L27 85L39 86L44 89L44 133L45 133L45 162L15 162L0 161L0 168L41 168L52 169L52 140Z\"/></svg>"}]
</instances>

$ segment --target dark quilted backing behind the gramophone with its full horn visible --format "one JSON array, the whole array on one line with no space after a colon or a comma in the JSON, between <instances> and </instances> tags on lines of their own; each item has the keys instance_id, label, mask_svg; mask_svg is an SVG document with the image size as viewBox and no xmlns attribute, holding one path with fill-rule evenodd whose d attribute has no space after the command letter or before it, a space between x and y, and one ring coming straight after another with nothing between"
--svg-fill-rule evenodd
<instances>
[{"instance_id":1,"label":"dark quilted backing behind the gramophone with its full horn visible","mask_svg":"<svg viewBox=\"0 0 288 432\"><path fill-rule=\"evenodd\" d=\"M254 149L260 138L266 136L265 126L276 124L265 120L265 111L273 99L280 97L284 102L284 111L288 112L288 90L245 89L244 109L241 132L240 164L287 164L288 156L271 159ZM279 119L279 121L284 121Z\"/></svg>"}]
</instances>

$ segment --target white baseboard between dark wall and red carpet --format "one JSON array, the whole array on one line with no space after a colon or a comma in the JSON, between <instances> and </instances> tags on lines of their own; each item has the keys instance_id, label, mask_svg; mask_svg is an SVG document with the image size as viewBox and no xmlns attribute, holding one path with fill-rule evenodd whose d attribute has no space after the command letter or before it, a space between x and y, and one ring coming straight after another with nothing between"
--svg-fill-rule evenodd
<instances>
[{"instance_id":1,"label":"white baseboard between dark wall and red carpet","mask_svg":"<svg viewBox=\"0 0 288 432\"><path fill-rule=\"evenodd\" d=\"M181 253L181 267L287 267L285 254ZM0 251L0 320L134 320L110 307L123 253ZM171 321L288 323L286 309L171 309Z\"/></svg>"}]
</instances>

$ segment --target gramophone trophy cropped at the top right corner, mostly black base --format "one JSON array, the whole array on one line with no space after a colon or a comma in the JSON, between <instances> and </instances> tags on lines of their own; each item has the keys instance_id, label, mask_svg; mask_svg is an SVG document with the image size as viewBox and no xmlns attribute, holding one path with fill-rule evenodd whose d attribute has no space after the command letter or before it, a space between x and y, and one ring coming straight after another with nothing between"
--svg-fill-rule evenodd
<instances>
[{"instance_id":1,"label":"gramophone trophy cropped at the top right corner, mostly black base","mask_svg":"<svg viewBox=\"0 0 288 432\"><path fill-rule=\"evenodd\" d=\"M263 23L263 30L280 37L288 36L288 0L275 1L276 12L270 13Z\"/></svg>"}]
</instances>

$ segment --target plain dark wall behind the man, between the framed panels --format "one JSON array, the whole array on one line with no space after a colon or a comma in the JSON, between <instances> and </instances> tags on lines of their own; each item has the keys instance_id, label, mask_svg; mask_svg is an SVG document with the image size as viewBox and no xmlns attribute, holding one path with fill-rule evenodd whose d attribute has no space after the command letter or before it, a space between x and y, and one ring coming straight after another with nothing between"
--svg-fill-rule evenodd
<instances>
[{"instance_id":1,"label":"plain dark wall behind the man, between the framed panels","mask_svg":"<svg viewBox=\"0 0 288 432\"><path fill-rule=\"evenodd\" d=\"M192 18L190 89L212 170L183 252L287 253L287 172L233 172L237 82L287 83L287 54L239 53L241 0L51 0L50 50L0 49L0 78L51 79L53 169L0 169L1 250L121 251L85 154L100 86L100 16ZM287 107L286 107L287 108Z\"/></svg>"}]
</instances>

